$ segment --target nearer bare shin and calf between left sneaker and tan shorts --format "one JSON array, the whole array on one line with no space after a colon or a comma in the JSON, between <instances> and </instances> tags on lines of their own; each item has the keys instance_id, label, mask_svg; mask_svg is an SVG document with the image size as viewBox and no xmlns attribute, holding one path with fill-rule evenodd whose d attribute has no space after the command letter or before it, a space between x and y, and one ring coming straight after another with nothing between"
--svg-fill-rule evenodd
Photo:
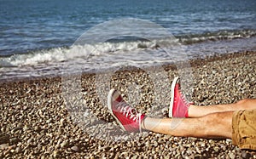
<instances>
[{"instance_id":1,"label":"nearer bare shin and calf between left sneaker and tan shorts","mask_svg":"<svg viewBox=\"0 0 256 159\"><path fill-rule=\"evenodd\" d=\"M155 133L198 138L231 138L233 111L212 113L198 118L150 118L142 128Z\"/></svg>"}]
</instances>

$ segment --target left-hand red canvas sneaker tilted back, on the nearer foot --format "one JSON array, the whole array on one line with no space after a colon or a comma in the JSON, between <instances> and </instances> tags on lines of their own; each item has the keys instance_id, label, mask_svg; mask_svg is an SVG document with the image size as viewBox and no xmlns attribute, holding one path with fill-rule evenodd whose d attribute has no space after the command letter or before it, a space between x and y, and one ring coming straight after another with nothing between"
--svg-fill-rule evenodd
<instances>
[{"instance_id":1,"label":"left-hand red canvas sneaker tilted back, on the nearer foot","mask_svg":"<svg viewBox=\"0 0 256 159\"><path fill-rule=\"evenodd\" d=\"M108 93L108 110L124 130L128 132L142 131L141 123L145 115L131 108L119 91L111 89Z\"/></svg>"}]
</instances>

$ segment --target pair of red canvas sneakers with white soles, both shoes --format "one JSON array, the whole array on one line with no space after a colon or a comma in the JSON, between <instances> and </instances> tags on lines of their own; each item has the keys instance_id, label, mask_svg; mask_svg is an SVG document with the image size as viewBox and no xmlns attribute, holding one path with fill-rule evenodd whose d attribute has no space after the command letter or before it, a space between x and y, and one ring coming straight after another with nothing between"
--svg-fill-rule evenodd
<instances>
[{"instance_id":1,"label":"pair of red canvas sneakers with white soles, both shoes","mask_svg":"<svg viewBox=\"0 0 256 159\"><path fill-rule=\"evenodd\" d=\"M183 98L178 77L175 77L172 81L171 95L169 117L188 117L190 104ZM141 131L141 123L145 118L145 114L137 112L137 110L128 105L119 94L119 91L110 90L108 94L108 110L125 131Z\"/></svg>"}]
</instances>

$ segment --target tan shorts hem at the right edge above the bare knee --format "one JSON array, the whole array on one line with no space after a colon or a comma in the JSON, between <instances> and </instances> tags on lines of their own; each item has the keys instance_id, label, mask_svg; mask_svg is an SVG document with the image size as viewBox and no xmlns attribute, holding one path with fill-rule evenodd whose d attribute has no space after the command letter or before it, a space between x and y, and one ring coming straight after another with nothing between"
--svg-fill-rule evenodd
<instances>
[{"instance_id":1,"label":"tan shorts hem at the right edge above the bare knee","mask_svg":"<svg viewBox=\"0 0 256 159\"><path fill-rule=\"evenodd\" d=\"M256 150L256 110L235 111L232 118L232 144Z\"/></svg>"}]
</instances>

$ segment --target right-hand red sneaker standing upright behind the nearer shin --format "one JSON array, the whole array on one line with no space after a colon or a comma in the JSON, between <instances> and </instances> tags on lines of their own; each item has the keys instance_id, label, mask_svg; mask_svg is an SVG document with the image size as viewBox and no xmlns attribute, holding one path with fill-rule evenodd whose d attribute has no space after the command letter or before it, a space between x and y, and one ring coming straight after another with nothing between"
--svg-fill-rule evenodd
<instances>
[{"instance_id":1,"label":"right-hand red sneaker standing upright behind the nearer shin","mask_svg":"<svg viewBox=\"0 0 256 159\"><path fill-rule=\"evenodd\" d=\"M183 94L180 91L179 78L175 77L172 82L172 99L169 109L169 117L189 117L189 102L184 99Z\"/></svg>"}]
</instances>

